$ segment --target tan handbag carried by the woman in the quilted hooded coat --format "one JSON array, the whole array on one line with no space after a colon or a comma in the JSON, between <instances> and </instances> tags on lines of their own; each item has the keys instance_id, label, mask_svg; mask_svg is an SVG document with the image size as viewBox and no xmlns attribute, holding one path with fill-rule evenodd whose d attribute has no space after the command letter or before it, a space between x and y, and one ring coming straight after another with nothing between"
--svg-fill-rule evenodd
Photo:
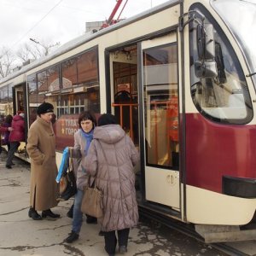
<instances>
[{"instance_id":1,"label":"tan handbag carried by the woman in the quilted hooded coat","mask_svg":"<svg viewBox=\"0 0 256 256\"><path fill-rule=\"evenodd\" d=\"M84 196L81 205L81 212L88 214L95 218L102 218L103 207L102 207L102 191L97 189L96 180L90 187L90 177L88 183L84 188Z\"/></svg>"}]
</instances>

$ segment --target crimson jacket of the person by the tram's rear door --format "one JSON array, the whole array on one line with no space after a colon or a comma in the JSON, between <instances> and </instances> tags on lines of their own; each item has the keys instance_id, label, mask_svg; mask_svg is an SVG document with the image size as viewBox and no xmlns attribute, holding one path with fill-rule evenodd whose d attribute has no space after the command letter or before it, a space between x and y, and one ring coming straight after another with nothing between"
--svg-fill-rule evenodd
<instances>
[{"instance_id":1,"label":"crimson jacket of the person by the tram's rear door","mask_svg":"<svg viewBox=\"0 0 256 256\"><path fill-rule=\"evenodd\" d=\"M13 131L9 134L9 142L25 142L25 122L23 117L15 114L12 120Z\"/></svg>"}]
</instances>

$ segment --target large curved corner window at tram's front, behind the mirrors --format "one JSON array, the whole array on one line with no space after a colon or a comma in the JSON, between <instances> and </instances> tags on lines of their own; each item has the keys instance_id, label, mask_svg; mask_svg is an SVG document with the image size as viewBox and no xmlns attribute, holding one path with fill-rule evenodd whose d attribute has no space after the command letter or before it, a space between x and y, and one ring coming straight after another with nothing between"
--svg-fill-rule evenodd
<instances>
[{"instance_id":1,"label":"large curved corner window at tram's front, behind the mirrors","mask_svg":"<svg viewBox=\"0 0 256 256\"><path fill-rule=\"evenodd\" d=\"M214 58L217 67L215 77L196 73L196 62L202 59L198 46L198 23L189 23L191 96L195 107L207 119L225 124L245 124L253 118L252 102L240 62L221 27L207 10L195 4L206 16L205 24L212 24Z\"/></svg>"}]
</instances>

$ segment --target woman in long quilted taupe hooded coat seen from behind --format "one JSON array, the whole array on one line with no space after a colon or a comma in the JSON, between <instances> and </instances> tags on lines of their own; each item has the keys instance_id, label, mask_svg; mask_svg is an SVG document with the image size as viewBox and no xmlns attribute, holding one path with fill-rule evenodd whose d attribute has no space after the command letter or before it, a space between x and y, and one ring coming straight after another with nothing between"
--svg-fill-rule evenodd
<instances>
[{"instance_id":1,"label":"woman in long quilted taupe hooded coat seen from behind","mask_svg":"<svg viewBox=\"0 0 256 256\"><path fill-rule=\"evenodd\" d=\"M138 221L134 166L139 160L131 137L116 124L114 116L104 113L98 119L89 152L82 166L96 177L103 193L104 215L99 221L105 236L105 250L114 255L118 234L119 253L127 252L129 231Z\"/></svg>"}]
</instances>

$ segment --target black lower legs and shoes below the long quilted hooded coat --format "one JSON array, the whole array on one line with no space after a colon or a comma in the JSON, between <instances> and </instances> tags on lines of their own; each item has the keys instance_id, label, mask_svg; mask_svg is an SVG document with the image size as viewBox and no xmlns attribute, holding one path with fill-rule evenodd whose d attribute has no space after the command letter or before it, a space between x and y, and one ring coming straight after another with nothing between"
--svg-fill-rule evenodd
<instances>
[{"instance_id":1,"label":"black lower legs and shoes below the long quilted hooded coat","mask_svg":"<svg viewBox=\"0 0 256 256\"><path fill-rule=\"evenodd\" d=\"M128 243L128 236L129 236L130 229L125 230L117 230L118 235L118 241L119 241L119 247L120 246L126 246ZM105 250L108 254L114 254L115 253L115 247L117 244L117 238L115 236L115 230L104 232L104 238L105 238Z\"/></svg>"}]
</instances>

